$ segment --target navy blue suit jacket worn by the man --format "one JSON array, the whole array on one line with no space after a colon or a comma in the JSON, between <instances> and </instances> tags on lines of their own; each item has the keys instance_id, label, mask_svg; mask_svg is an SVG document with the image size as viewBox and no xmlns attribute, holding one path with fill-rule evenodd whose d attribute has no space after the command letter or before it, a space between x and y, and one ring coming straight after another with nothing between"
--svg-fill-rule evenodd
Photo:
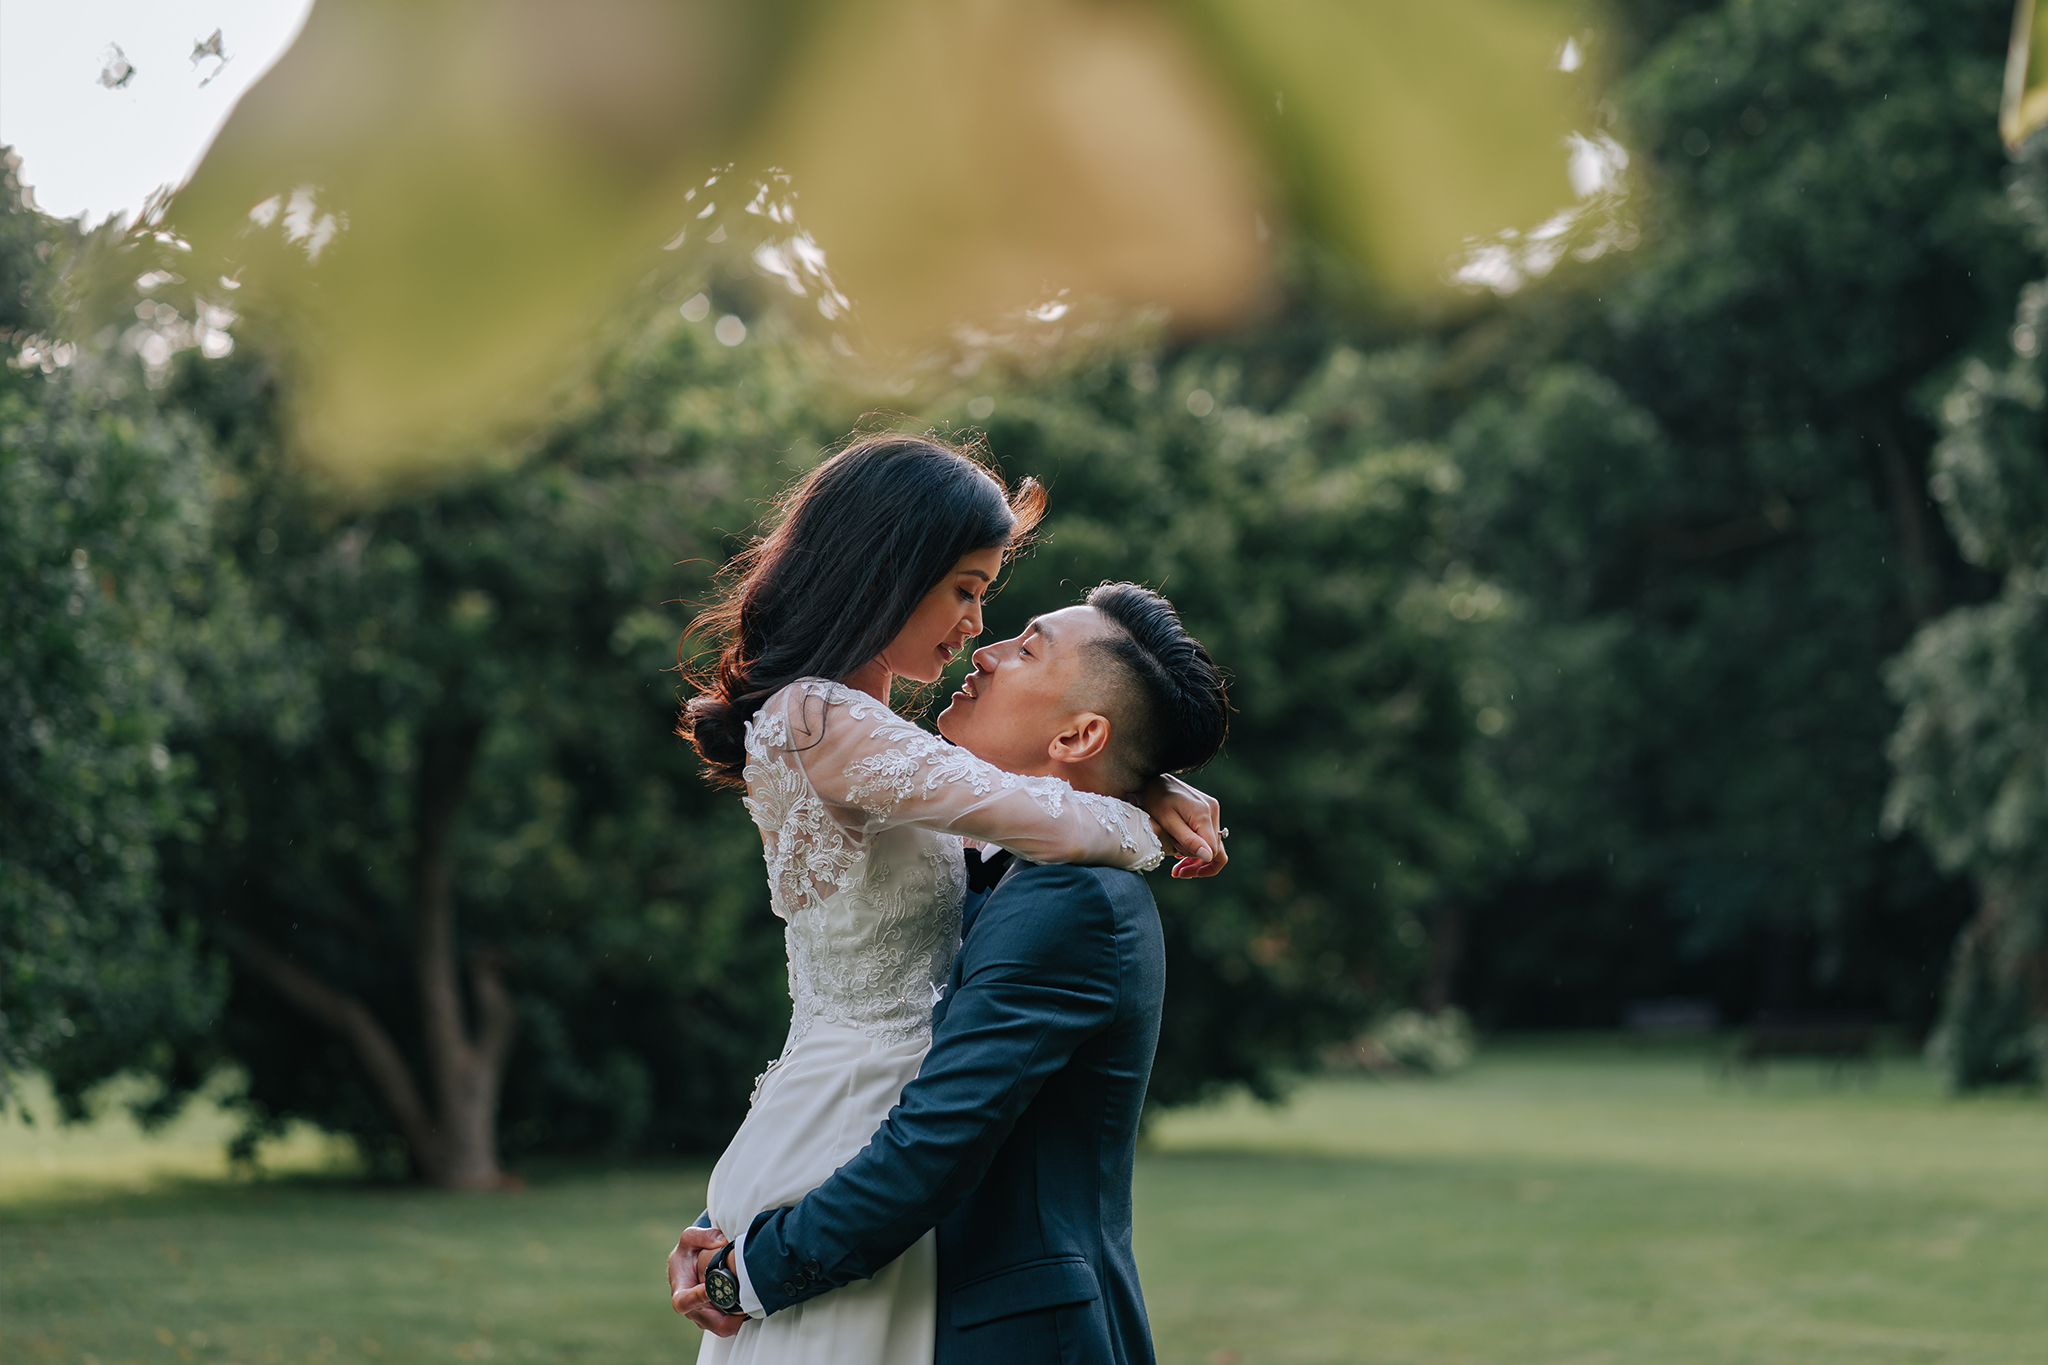
<instances>
[{"instance_id":1,"label":"navy blue suit jacket worn by the man","mask_svg":"<svg viewBox=\"0 0 2048 1365\"><path fill-rule=\"evenodd\" d=\"M938 1228L938 1365L1151 1365L1130 1162L1165 941L1145 878L1018 864L969 898L932 1052L866 1148L754 1220L770 1314Z\"/></svg>"}]
</instances>

